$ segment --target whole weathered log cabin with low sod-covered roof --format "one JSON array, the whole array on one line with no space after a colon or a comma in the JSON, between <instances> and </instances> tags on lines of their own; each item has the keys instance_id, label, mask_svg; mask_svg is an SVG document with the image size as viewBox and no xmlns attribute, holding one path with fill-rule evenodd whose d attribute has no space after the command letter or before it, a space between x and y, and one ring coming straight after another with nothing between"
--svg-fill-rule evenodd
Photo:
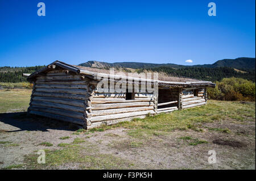
<instances>
[{"instance_id":1,"label":"whole weathered log cabin with low sod-covered roof","mask_svg":"<svg viewBox=\"0 0 256 181\"><path fill-rule=\"evenodd\" d=\"M110 70L61 61L35 71L27 80L34 85L28 113L85 129L203 106L207 103L207 87L215 86L209 81L163 74L157 78L112 74Z\"/></svg>"}]
</instances>

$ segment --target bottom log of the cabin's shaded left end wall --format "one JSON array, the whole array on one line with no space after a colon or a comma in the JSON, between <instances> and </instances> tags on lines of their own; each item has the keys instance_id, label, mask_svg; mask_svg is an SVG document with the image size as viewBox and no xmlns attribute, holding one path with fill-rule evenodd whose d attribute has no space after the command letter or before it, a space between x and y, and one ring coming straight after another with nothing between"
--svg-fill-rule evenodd
<instances>
[{"instance_id":1,"label":"bottom log of the cabin's shaded left end wall","mask_svg":"<svg viewBox=\"0 0 256 181\"><path fill-rule=\"evenodd\" d=\"M80 119L73 119L71 117L67 117L67 116L60 116L60 115L55 115L52 113L46 113L46 112L40 112L40 111L29 111L30 114L32 115L38 115L38 116L43 116L43 117L48 117L51 119L56 119L56 120L60 120L60 121L66 121L69 123L74 123L74 124L79 124L79 125L84 125L84 120L80 120Z\"/></svg>"}]
</instances>

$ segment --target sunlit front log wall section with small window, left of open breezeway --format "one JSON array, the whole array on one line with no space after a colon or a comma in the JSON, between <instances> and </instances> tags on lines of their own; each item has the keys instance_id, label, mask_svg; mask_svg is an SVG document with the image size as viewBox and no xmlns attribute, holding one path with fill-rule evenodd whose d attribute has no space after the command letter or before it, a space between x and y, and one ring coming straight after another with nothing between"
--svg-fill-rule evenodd
<instances>
[{"instance_id":1,"label":"sunlit front log wall section with small window, left of open breezeway","mask_svg":"<svg viewBox=\"0 0 256 181\"><path fill-rule=\"evenodd\" d=\"M87 128L111 125L136 117L143 118L156 112L156 98L153 94L135 93L134 100L126 100L126 93L93 92L88 98L86 110Z\"/></svg>"}]
</instances>

